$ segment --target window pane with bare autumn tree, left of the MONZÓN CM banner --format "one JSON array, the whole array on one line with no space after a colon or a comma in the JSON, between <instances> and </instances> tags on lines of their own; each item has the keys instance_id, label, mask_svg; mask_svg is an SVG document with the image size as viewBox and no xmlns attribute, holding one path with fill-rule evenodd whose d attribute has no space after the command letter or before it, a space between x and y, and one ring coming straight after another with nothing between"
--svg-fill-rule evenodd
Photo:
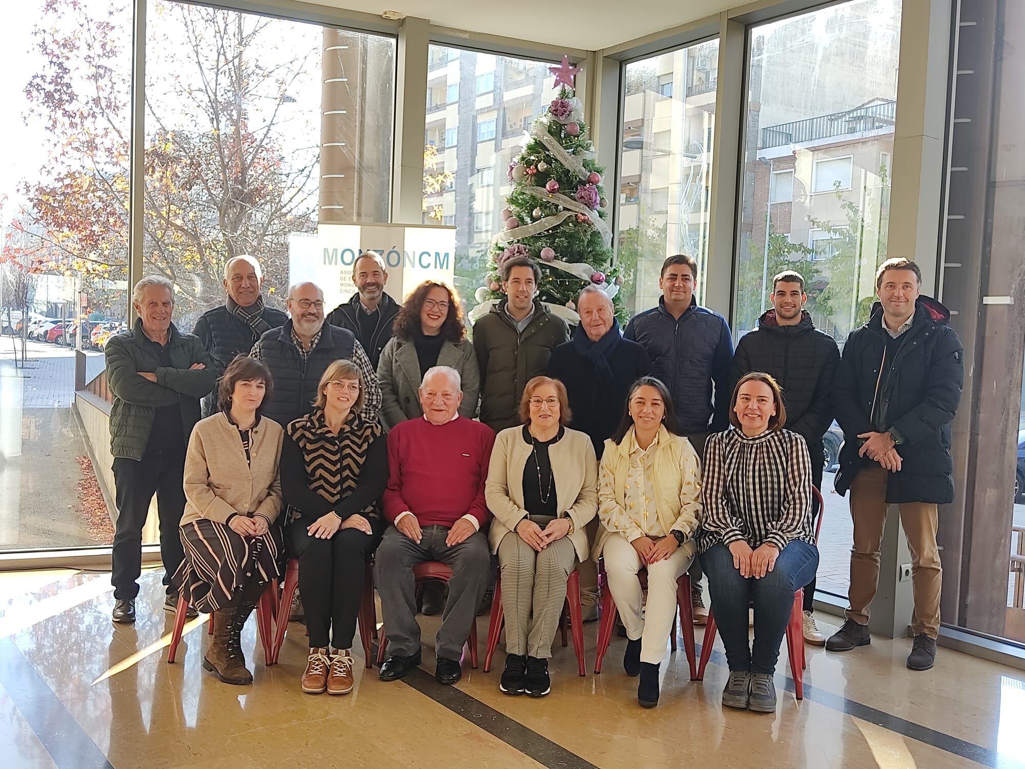
<instances>
[{"instance_id":1,"label":"window pane with bare autumn tree, left of the MONZ\u00d3N CM banner","mask_svg":"<svg viewBox=\"0 0 1025 769\"><path fill-rule=\"evenodd\" d=\"M223 266L257 256L283 307L294 236L386 221L392 38L150 0L144 271L169 277L191 329L224 300ZM436 102L449 94L443 85ZM428 99L432 95L428 94Z\"/></svg>"}]
</instances>

